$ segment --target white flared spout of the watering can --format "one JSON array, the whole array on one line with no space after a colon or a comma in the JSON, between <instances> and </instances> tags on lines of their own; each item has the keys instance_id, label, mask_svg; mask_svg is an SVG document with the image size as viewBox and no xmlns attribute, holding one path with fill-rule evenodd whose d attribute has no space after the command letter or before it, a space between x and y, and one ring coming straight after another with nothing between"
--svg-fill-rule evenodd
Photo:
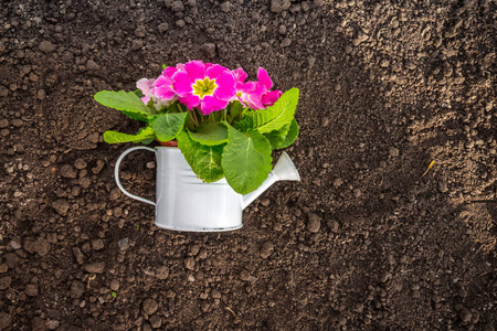
<instances>
[{"instance_id":1,"label":"white flared spout of the watering can","mask_svg":"<svg viewBox=\"0 0 497 331\"><path fill-rule=\"evenodd\" d=\"M264 191L269 189L277 181L300 181L300 175L298 174L297 168L295 168L294 162L292 162L290 158L286 152L283 152L279 157L276 166L269 174L267 179L258 186L257 190L243 195L242 197L242 210L244 210L247 205L250 205L258 195L261 195Z\"/></svg>"}]
</instances>

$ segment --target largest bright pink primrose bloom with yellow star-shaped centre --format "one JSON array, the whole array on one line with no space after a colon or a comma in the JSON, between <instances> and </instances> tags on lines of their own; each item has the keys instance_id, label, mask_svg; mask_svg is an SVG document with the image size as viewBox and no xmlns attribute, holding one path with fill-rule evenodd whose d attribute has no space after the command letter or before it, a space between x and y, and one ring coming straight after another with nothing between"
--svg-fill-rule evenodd
<instances>
[{"instance_id":1,"label":"largest bright pink primrose bloom with yellow star-shaped centre","mask_svg":"<svg viewBox=\"0 0 497 331\"><path fill-rule=\"evenodd\" d=\"M202 61L190 61L172 75L172 89L191 110L209 115L221 110L236 94L235 77L228 68Z\"/></svg>"}]
</instances>

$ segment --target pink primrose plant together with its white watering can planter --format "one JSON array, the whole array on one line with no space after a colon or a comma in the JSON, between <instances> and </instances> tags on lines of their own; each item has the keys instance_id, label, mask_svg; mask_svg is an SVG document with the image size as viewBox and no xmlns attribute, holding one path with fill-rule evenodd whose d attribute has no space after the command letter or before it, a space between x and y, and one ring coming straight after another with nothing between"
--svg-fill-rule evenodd
<instances>
[{"instance_id":1,"label":"pink primrose plant together with its white watering can planter","mask_svg":"<svg viewBox=\"0 0 497 331\"><path fill-rule=\"evenodd\" d=\"M95 100L99 104L144 122L136 135L106 131L106 142L148 145L158 140L165 146L156 149L131 148L116 162L118 186L129 196L156 205L158 226L186 231L237 228L241 226L243 207L275 180L299 179L286 153L272 172L273 149L290 146L298 136L294 117L298 88L285 93L272 90L273 82L264 68L258 68L256 82L246 82L246 78L247 74L242 68L231 71L219 64L190 61L163 66L162 73L155 79L139 79L137 90L102 90L95 94ZM133 195L120 185L119 163L128 152L136 149L157 153L156 203ZM275 174L276 169L279 169L279 178ZM221 205L236 204L233 201L240 200L242 194L241 204L225 215L220 212L219 205L209 212L209 204L216 203L212 200L215 194L232 196L229 201L222 197ZM166 195L167 199L163 197ZM159 203L161 199L167 203ZM178 203L184 203L184 209L191 210L193 201L195 205L201 205L197 207L198 212L175 216L184 218L181 224L171 220L165 221L167 224L158 223L158 218L163 218L162 215L167 213L166 210L178 210ZM209 216L209 213L212 215ZM195 217L202 220L186 220ZM240 222L232 221L236 217ZM211 218L215 218L215 222L209 225ZM221 218L225 221L221 222ZM186 225L188 222L193 225Z\"/></svg>"}]
</instances>

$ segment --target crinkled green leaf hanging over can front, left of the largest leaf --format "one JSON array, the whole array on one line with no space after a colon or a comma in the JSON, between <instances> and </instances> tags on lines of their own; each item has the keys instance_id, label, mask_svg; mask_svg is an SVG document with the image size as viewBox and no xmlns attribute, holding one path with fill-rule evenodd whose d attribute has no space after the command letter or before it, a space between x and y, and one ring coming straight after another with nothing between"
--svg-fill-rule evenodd
<instances>
[{"instance_id":1,"label":"crinkled green leaf hanging over can front, left of the largest leaf","mask_svg":"<svg viewBox=\"0 0 497 331\"><path fill-rule=\"evenodd\" d=\"M219 181L224 177L221 167L223 146L203 146L192 140L186 131L181 131L178 147L197 175L208 182Z\"/></svg>"}]
</instances>

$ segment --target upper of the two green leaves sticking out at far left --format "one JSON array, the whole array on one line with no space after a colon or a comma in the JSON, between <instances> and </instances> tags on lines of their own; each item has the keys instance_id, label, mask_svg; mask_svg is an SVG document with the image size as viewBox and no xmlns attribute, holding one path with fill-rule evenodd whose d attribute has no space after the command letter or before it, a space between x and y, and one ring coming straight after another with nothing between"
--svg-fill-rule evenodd
<instances>
[{"instance_id":1,"label":"upper of the two green leaves sticking out at far left","mask_svg":"<svg viewBox=\"0 0 497 331\"><path fill-rule=\"evenodd\" d=\"M155 114L141 102L136 92L101 90L95 94L94 98L101 105L127 113L141 114L147 118Z\"/></svg>"}]
</instances>

